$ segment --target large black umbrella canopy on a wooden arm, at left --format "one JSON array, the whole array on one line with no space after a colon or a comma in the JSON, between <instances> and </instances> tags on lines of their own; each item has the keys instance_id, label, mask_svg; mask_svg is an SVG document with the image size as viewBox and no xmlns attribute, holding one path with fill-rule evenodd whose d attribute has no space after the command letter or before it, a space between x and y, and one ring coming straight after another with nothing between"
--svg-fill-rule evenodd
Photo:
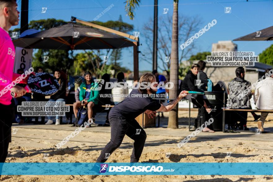
<instances>
[{"instance_id":1,"label":"large black umbrella canopy on a wooden arm, at left","mask_svg":"<svg viewBox=\"0 0 273 182\"><path fill-rule=\"evenodd\" d=\"M27 49L118 49L133 46L119 35L82 26L74 22L13 40L16 47Z\"/></svg>"}]
</instances>

